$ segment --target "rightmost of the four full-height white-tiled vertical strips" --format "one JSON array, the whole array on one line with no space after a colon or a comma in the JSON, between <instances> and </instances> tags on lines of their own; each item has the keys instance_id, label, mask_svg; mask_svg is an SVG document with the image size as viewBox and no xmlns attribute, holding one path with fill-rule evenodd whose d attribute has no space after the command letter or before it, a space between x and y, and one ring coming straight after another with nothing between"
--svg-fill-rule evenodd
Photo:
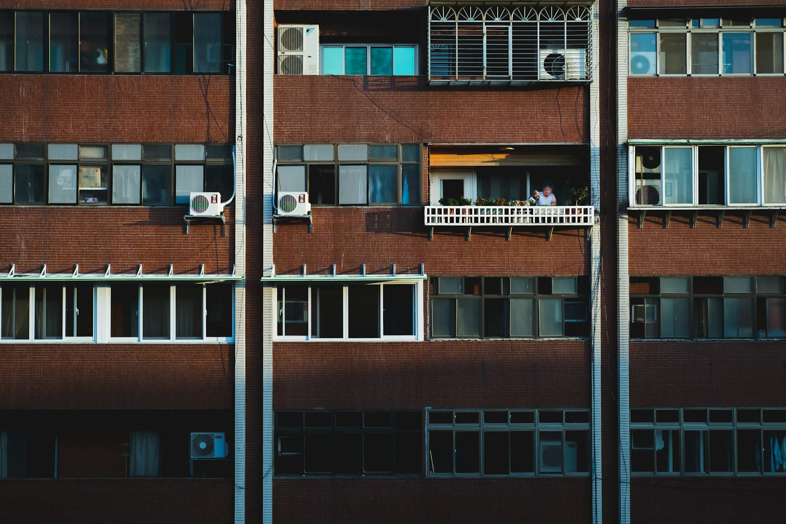
<instances>
[{"instance_id":1,"label":"rightmost of the four full-height white-tiled vertical strips","mask_svg":"<svg viewBox=\"0 0 786 524\"><path fill-rule=\"evenodd\" d=\"M619 405L619 522L630 524L630 280L628 276L628 27L617 2L617 395Z\"/></svg>"}]
</instances>

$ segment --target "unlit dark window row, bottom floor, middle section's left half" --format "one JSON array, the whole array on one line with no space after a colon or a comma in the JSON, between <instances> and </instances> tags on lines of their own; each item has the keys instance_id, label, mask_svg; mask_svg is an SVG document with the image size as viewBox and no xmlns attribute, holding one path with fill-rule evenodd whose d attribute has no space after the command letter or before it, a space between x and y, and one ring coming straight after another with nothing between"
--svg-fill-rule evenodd
<instances>
[{"instance_id":1,"label":"unlit dark window row, bottom floor, middle section's left half","mask_svg":"<svg viewBox=\"0 0 786 524\"><path fill-rule=\"evenodd\" d=\"M418 475L421 412L279 411L275 475Z\"/></svg>"}]
</instances>

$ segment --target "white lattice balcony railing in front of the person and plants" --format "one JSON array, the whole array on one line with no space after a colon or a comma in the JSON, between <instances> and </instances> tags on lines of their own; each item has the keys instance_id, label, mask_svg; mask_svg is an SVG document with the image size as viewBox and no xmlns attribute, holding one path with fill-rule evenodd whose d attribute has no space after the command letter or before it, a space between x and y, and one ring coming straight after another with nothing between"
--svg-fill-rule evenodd
<instances>
[{"instance_id":1,"label":"white lattice balcony railing in front of the person and plants","mask_svg":"<svg viewBox=\"0 0 786 524\"><path fill-rule=\"evenodd\" d=\"M425 225L575 225L595 221L593 206L426 206Z\"/></svg>"}]
</instances>

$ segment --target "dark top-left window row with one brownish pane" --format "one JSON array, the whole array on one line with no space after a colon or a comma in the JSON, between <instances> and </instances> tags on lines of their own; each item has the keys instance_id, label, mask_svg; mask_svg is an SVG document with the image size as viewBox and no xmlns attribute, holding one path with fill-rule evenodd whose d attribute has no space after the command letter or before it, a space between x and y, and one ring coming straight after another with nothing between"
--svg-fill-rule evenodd
<instances>
[{"instance_id":1,"label":"dark top-left window row with one brownish pane","mask_svg":"<svg viewBox=\"0 0 786 524\"><path fill-rule=\"evenodd\" d=\"M0 71L228 74L234 15L0 11Z\"/></svg>"}]
</instances>

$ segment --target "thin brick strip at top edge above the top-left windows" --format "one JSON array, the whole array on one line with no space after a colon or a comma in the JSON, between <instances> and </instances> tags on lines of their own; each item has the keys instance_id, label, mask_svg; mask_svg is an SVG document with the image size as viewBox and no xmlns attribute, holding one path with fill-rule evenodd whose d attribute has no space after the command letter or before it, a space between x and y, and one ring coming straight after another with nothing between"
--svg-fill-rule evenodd
<instances>
[{"instance_id":1,"label":"thin brick strip at top edge above the top-left windows","mask_svg":"<svg viewBox=\"0 0 786 524\"><path fill-rule=\"evenodd\" d=\"M2 9L19 9L19 0L0 0ZM25 9L215 9L234 7L232 0L24 0Z\"/></svg>"}]
</instances>

